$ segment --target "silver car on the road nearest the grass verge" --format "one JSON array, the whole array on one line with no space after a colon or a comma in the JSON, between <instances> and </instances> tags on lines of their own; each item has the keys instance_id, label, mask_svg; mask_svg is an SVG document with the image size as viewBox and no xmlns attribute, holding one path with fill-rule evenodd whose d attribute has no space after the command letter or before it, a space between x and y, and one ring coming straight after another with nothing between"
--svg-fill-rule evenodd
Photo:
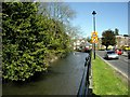
<instances>
[{"instance_id":1,"label":"silver car on the road nearest the grass verge","mask_svg":"<svg viewBox=\"0 0 130 97\"><path fill-rule=\"evenodd\" d=\"M119 56L117 53L115 53L115 51L106 51L104 58L106 58L106 59L119 59Z\"/></svg>"}]
</instances>

